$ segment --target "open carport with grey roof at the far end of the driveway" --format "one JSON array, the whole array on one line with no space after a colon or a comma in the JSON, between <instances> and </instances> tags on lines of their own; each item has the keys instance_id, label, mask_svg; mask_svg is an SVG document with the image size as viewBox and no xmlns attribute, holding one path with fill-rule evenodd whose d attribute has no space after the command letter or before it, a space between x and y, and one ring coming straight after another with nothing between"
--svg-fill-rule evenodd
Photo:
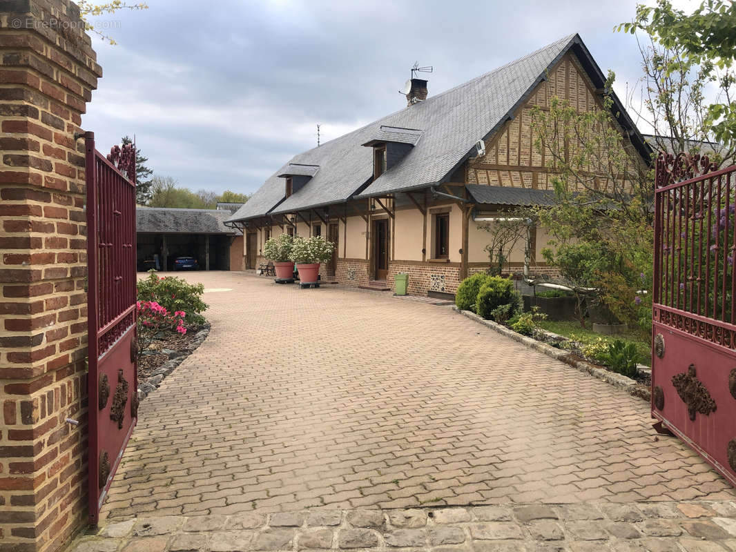
<instances>
[{"instance_id":1,"label":"open carport with grey roof at the far end of the driveway","mask_svg":"<svg viewBox=\"0 0 736 552\"><path fill-rule=\"evenodd\" d=\"M191 256L202 270L241 270L243 235L224 225L230 210L138 207L135 210L138 270L173 269Z\"/></svg>"}]
</instances>

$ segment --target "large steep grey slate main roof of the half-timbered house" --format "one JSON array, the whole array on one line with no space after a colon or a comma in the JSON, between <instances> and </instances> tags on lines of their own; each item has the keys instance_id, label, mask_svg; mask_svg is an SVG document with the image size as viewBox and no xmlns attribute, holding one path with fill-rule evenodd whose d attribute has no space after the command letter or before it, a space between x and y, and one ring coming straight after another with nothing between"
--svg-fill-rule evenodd
<instances>
[{"instance_id":1,"label":"large steep grey slate main roof of the half-timbered house","mask_svg":"<svg viewBox=\"0 0 736 552\"><path fill-rule=\"evenodd\" d=\"M546 77L548 69L570 49L581 59L595 85L602 87L605 77L581 38L566 36L470 82L295 155L289 163L319 165L314 177L284 199L286 186L277 175L286 174L287 163L266 180L230 221L341 203L356 194L382 196L444 182L470 156L475 143L498 130ZM613 98L615 110L621 113L620 121L633 132L632 140L638 137L640 148L646 149L623 105ZM373 152L362 144L381 132L395 134L391 130L382 131L382 127L421 130L421 137L400 163L370 182Z\"/></svg>"}]
</instances>

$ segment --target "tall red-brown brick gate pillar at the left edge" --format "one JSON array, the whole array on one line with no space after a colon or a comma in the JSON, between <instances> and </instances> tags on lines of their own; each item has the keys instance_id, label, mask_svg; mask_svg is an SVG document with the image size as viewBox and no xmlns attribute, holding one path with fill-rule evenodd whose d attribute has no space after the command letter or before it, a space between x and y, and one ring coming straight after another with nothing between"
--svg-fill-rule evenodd
<instances>
[{"instance_id":1,"label":"tall red-brown brick gate pillar at the left edge","mask_svg":"<svg viewBox=\"0 0 736 552\"><path fill-rule=\"evenodd\" d=\"M102 71L75 4L0 5L0 552L54 551L86 520L85 158L74 132Z\"/></svg>"}]
</instances>

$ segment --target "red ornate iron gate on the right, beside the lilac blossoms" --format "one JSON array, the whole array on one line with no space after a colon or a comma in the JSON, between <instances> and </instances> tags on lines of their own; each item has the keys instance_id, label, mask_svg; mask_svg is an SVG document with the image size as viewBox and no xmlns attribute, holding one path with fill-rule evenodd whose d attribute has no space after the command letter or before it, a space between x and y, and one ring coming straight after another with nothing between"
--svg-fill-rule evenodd
<instances>
[{"instance_id":1,"label":"red ornate iron gate on the right, beside the lilac blossoms","mask_svg":"<svg viewBox=\"0 0 736 552\"><path fill-rule=\"evenodd\" d=\"M736 166L660 154L651 413L736 485Z\"/></svg>"}]
</instances>

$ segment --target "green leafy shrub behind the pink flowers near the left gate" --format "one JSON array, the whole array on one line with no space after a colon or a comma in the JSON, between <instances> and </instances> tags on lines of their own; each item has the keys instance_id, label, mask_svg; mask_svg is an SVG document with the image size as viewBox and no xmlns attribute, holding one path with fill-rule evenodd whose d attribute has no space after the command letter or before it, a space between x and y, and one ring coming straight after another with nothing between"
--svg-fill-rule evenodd
<instances>
[{"instance_id":1,"label":"green leafy shrub behind the pink flowers near the left gate","mask_svg":"<svg viewBox=\"0 0 736 552\"><path fill-rule=\"evenodd\" d=\"M145 280L138 281L138 301L154 301L171 313L184 311L186 325L204 324L202 313L208 305L202 301L205 286L201 283L191 284L181 278L166 276L163 278L153 271Z\"/></svg>"}]
</instances>

